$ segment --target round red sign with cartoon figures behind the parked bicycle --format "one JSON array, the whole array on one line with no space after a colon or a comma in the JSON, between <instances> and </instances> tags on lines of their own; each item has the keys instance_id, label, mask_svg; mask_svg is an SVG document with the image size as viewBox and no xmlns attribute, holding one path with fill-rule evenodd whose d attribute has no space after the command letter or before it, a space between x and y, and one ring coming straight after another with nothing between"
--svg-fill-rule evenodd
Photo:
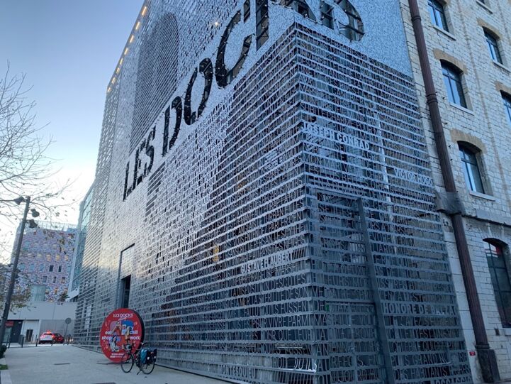
<instances>
[{"instance_id":1,"label":"round red sign with cartoon figures behind the parked bicycle","mask_svg":"<svg viewBox=\"0 0 511 384\"><path fill-rule=\"evenodd\" d=\"M133 309L116 309L106 317L99 337L104 355L120 363L127 344L133 344L135 350L144 341L144 322Z\"/></svg>"}]
</instances>

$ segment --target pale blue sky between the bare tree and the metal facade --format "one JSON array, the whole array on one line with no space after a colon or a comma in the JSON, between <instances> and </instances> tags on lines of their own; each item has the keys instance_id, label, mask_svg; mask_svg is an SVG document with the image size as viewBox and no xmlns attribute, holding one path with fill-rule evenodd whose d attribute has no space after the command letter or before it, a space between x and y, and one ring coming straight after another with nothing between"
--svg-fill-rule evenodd
<instances>
[{"instance_id":1,"label":"pale blue sky between the bare tree and the metal facade","mask_svg":"<svg viewBox=\"0 0 511 384\"><path fill-rule=\"evenodd\" d=\"M48 124L43 133L55 141L47 155L61 159L58 177L79 179L69 197L82 198L93 181L106 86L141 6L142 0L0 0L0 74L8 60L12 73L26 73L37 122ZM62 217L76 220L76 212Z\"/></svg>"}]
</instances>

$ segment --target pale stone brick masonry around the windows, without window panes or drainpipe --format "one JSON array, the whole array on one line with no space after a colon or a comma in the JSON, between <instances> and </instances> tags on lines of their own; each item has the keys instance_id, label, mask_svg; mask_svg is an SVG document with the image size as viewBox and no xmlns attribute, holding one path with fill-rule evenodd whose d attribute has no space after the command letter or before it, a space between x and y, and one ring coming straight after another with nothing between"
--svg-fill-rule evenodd
<instances>
[{"instance_id":1,"label":"pale stone brick masonry around the windows, without window panes or drainpipe","mask_svg":"<svg viewBox=\"0 0 511 384\"><path fill-rule=\"evenodd\" d=\"M508 0L449 0L444 4L449 32L432 25L427 0L419 0L429 62L439 97L439 107L449 146L451 165L457 189L466 209L466 236L476 275L478 294L483 307L483 317L490 347L498 356L502 379L511 378L511 329L502 327L484 253L485 238L496 238L511 245L511 126L505 116L501 91L511 87L511 3ZM427 112L425 88L422 81L415 36L412 31L408 0L401 0L405 31L410 49L412 70L417 83L421 112L427 131L429 153L432 158L434 182L442 190L436 148ZM488 28L499 40L502 64L493 62L485 40L483 27ZM449 103L442 77L440 60L447 60L463 70L463 86L467 108ZM485 194L471 192L466 186L457 142L471 143L481 150L478 155ZM467 347L474 348L474 336L468 304L464 292L459 259L454 236L447 216L444 217L444 234L451 262L453 280L458 294L461 322L465 329ZM506 247L505 247L506 248ZM509 263L509 260L507 260ZM476 358L471 357L473 375L481 382Z\"/></svg>"}]
</instances>

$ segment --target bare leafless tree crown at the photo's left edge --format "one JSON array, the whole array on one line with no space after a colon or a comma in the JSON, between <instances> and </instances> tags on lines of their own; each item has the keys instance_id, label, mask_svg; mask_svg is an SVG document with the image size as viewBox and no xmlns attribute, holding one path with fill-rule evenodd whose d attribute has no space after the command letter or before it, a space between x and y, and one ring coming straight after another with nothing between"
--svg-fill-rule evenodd
<instances>
[{"instance_id":1,"label":"bare leafless tree crown at the photo's left edge","mask_svg":"<svg viewBox=\"0 0 511 384\"><path fill-rule=\"evenodd\" d=\"M9 63L0 79L0 217L17 221L19 209L12 204L18 196L32 197L31 205L42 209L46 218L59 216L56 197L69 185L52 185L54 159L45 151L51 138L41 134L44 126L35 124L35 102L28 99L30 87L25 75L11 75Z\"/></svg>"}]
</instances>

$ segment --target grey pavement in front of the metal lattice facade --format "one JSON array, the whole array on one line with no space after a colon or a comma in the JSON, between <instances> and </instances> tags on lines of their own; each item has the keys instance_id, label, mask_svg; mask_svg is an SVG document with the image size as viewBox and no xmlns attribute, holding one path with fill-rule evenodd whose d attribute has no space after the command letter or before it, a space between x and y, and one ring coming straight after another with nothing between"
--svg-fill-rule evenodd
<instances>
[{"instance_id":1,"label":"grey pavement in front of the metal lattice facade","mask_svg":"<svg viewBox=\"0 0 511 384\"><path fill-rule=\"evenodd\" d=\"M0 371L0 384L226 383L160 366L156 366L150 375L142 372L137 375L136 366L130 373L124 373L118 364L111 363L101 353L60 344L10 348L5 360L9 370Z\"/></svg>"}]
</instances>

